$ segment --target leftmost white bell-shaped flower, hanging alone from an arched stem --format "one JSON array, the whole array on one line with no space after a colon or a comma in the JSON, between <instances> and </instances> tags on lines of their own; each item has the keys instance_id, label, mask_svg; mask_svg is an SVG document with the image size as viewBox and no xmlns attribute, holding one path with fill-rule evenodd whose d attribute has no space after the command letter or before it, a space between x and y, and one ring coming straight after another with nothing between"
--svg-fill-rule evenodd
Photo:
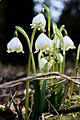
<instances>
[{"instance_id":1,"label":"leftmost white bell-shaped flower, hanging alone from an arched stem","mask_svg":"<svg viewBox=\"0 0 80 120\"><path fill-rule=\"evenodd\" d=\"M8 53L15 52L15 51L17 53L19 52L24 53L22 43L17 37L12 38L11 41L7 44Z\"/></svg>"}]
</instances>

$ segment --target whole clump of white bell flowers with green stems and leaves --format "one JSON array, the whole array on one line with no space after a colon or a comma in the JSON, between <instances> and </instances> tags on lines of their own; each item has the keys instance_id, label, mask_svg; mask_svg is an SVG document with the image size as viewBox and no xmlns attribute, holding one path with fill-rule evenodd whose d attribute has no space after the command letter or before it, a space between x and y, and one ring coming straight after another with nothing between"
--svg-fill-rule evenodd
<instances>
[{"instance_id":1,"label":"whole clump of white bell flowers with green stems and leaves","mask_svg":"<svg viewBox=\"0 0 80 120\"><path fill-rule=\"evenodd\" d=\"M47 30L45 30L46 17L44 16L44 12L47 12ZM64 74L66 51L76 48L74 42L67 35L67 31L64 25L58 28L56 23L52 22L53 33L51 35L50 23L50 11L49 8L44 5L41 13L36 15L32 20L32 24L30 24L31 28L33 29L31 39L20 26L15 27L15 29L21 32L21 34L26 38L28 43L28 75L30 75L31 65L33 68L33 74L36 75L37 73L33 55L34 52L32 51L34 40L35 54L36 52L38 53L38 68L42 73L58 71ZM37 30L40 32L40 35L35 38ZM62 31L64 31L64 35L62 34ZM11 53L14 51L17 53L24 53L23 46L17 37L13 37L13 39L7 44L7 52ZM34 115L32 116L35 116L35 118L39 119L42 113L47 112L46 110L52 110L53 108L53 110L56 111L56 109L59 109L65 93L65 85L63 82L60 84L60 80L61 79L51 79L48 84L48 88L46 87L47 83L45 79L34 81ZM26 82L26 120L28 120L28 90L29 81Z\"/></svg>"}]
</instances>

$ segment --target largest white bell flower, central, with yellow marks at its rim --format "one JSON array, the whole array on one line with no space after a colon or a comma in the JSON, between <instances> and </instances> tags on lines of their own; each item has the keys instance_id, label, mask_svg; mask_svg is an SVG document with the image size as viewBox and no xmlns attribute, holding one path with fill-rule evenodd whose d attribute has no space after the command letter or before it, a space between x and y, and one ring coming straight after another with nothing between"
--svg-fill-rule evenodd
<instances>
[{"instance_id":1,"label":"largest white bell flower, central, with yellow marks at its rim","mask_svg":"<svg viewBox=\"0 0 80 120\"><path fill-rule=\"evenodd\" d=\"M52 50L53 49L52 40L49 39L44 33L41 33L35 42L35 49L36 51L40 49L42 52Z\"/></svg>"}]
</instances>

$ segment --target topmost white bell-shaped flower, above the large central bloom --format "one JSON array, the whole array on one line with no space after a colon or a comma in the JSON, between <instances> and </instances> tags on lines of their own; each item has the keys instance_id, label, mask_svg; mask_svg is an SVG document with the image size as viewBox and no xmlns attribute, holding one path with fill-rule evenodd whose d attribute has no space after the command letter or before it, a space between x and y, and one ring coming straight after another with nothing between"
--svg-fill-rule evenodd
<instances>
[{"instance_id":1,"label":"topmost white bell-shaped flower, above the large central bloom","mask_svg":"<svg viewBox=\"0 0 80 120\"><path fill-rule=\"evenodd\" d=\"M31 25L31 28L34 28L36 25L39 25L43 30L45 30L46 19L44 15L42 13L39 13L38 15L36 15L32 20L32 24L30 25ZM38 28L38 30L41 29L40 27Z\"/></svg>"}]
</instances>

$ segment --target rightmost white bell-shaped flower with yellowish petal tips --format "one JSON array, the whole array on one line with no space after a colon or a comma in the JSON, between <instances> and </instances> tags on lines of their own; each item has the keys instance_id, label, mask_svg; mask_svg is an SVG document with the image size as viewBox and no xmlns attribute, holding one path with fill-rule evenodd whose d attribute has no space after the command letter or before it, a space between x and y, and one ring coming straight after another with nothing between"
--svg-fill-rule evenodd
<instances>
[{"instance_id":1,"label":"rightmost white bell-shaped flower with yellowish petal tips","mask_svg":"<svg viewBox=\"0 0 80 120\"><path fill-rule=\"evenodd\" d=\"M75 49L74 42L71 40L69 36L64 36L64 45L65 50Z\"/></svg>"}]
</instances>

